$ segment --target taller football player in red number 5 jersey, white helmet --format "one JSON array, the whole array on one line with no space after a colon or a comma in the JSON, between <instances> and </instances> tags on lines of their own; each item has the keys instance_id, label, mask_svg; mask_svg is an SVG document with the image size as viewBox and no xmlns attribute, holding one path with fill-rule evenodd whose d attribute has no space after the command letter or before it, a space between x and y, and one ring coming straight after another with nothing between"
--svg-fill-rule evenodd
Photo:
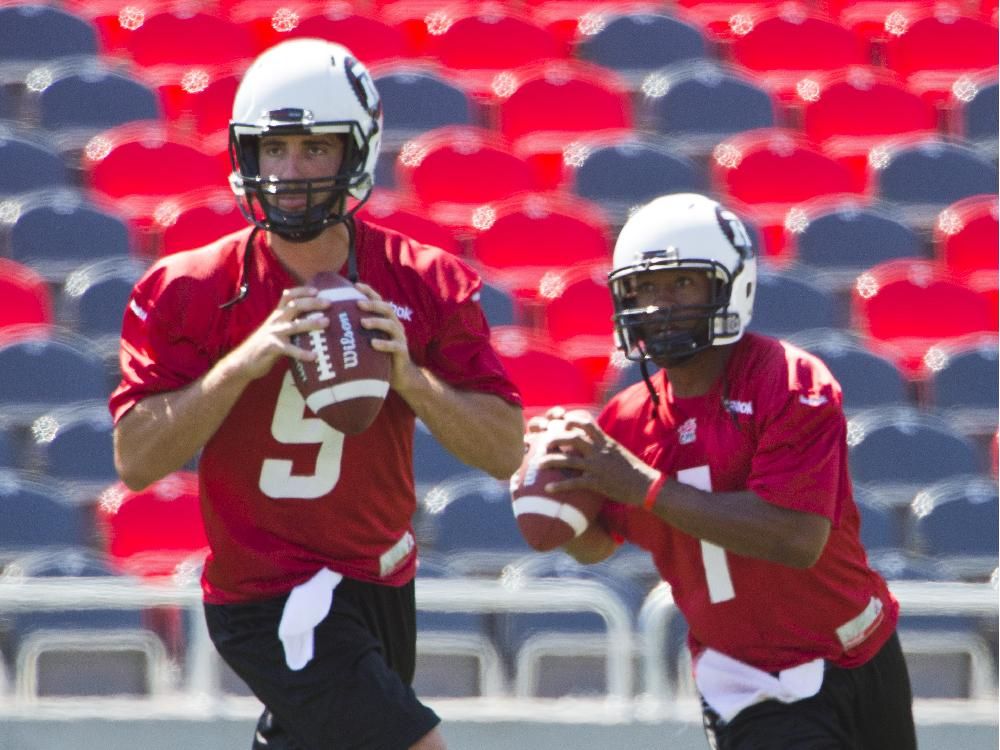
<instances>
[{"instance_id":1,"label":"taller football player in red number 5 jersey, white helmet","mask_svg":"<svg viewBox=\"0 0 1000 750\"><path fill-rule=\"evenodd\" d=\"M262 53L230 125L251 226L155 263L123 323L116 466L141 488L200 454L205 615L266 707L254 748L445 747L411 687L415 419L493 476L521 458L520 397L490 347L480 279L355 217L381 135L378 92L346 48ZM312 416L289 371L314 356L292 336L327 323L307 285L320 271L357 280L363 325L385 334L372 345L391 355L389 395L357 435Z\"/></svg>"}]
</instances>

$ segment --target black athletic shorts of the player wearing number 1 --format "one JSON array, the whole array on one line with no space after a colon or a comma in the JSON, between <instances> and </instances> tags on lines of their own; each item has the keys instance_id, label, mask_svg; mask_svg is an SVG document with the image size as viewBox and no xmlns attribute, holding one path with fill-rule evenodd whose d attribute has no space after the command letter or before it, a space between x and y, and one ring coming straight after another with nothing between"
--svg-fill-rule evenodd
<instances>
[{"instance_id":1,"label":"black athletic shorts of the player wearing number 1","mask_svg":"<svg viewBox=\"0 0 1000 750\"><path fill-rule=\"evenodd\" d=\"M745 708L726 723L702 701L715 750L915 750L910 677L894 633L867 663L828 664L811 698Z\"/></svg>"}]
</instances>

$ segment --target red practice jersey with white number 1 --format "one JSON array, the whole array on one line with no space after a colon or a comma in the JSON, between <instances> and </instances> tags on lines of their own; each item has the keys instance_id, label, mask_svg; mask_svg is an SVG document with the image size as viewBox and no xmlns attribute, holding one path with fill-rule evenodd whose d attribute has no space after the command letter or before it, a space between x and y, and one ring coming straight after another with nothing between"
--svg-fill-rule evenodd
<instances>
[{"instance_id":1,"label":"red practice jersey with white number 1","mask_svg":"<svg viewBox=\"0 0 1000 750\"><path fill-rule=\"evenodd\" d=\"M799 570L725 551L641 508L607 502L607 530L652 554L673 591L697 655L713 648L769 672L824 658L871 658L899 606L867 562L848 474L840 385L816 357L746 334L704 396L673 395L665 371L616 395L601 426L646 463L699 489L752 490L816 513L832 529L819 561Z\"/></svg>"}]
</instances>

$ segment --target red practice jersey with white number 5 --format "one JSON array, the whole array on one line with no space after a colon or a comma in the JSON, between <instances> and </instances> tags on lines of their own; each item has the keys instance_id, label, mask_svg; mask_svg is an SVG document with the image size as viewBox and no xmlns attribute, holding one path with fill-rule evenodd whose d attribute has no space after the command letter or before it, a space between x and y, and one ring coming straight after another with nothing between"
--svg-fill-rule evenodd
<instances>
[{"instance_id":1,"label":"red practice jersey with white number 5","mask_svg":"<svg viewBox=\"0 0 1000 750\"><path fill-rule=\"evenodd\" d=\"M284 289L300 286L266 234L250 236L247 228L167 256L136 284L110 401L115 421L146 396L205 374L261 325ZM519 403L490 347L475 272L360 221L356 239L358 275L395 308L413 361L458 388ZM345 436L305 408L289 362L247 387L202 451L210 603L277 596L321 567L389 585L416 569L413 412L390 390L374 424Z\"/></svg>"}]
</instances>

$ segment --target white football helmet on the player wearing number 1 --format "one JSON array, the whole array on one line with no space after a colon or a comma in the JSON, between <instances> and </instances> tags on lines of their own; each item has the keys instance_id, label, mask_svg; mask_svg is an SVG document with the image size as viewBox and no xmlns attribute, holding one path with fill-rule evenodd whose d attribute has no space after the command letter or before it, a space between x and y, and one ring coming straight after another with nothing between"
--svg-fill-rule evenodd
<instances>
[{"instance_id":1,"label":"white football helmet on the player wearing number 1","mask_svg":"<svg viewBox=\"0 0 1000 750\"><path fill-rule=\"evenodd\" d=\"M638 307L636 280L650 271L704 271L714 279L707 305ZM665 195L636 211L615 244L608 284L615 305L615 338L633 360L680 364L710 346L738 341L757 291L757 254L746 227L716 201L695 193ZM695 330L679 320L703 320Z\"/></svg>"}]
</instances>

